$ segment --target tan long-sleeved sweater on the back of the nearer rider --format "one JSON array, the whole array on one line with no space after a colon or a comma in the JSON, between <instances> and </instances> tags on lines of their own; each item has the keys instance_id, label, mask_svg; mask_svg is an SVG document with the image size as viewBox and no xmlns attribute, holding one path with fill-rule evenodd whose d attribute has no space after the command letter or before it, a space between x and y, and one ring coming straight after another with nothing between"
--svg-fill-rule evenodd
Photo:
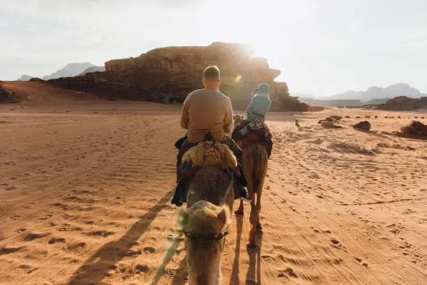
<instances>
[{"instance_id":1,"label":"tan long-sleeved sweater on the back of the nearer rider","mask_svg":"<svg viewBox=\"0 0 427 285\"><path fill-rule=\"evenodd\" d=\"M199 142L211 132L215 140L224 140L233 128L230 98L213 89L199 89L188 94L183 103L181 126L188 129L188 140Z\"/></svg>"}]
</instances>

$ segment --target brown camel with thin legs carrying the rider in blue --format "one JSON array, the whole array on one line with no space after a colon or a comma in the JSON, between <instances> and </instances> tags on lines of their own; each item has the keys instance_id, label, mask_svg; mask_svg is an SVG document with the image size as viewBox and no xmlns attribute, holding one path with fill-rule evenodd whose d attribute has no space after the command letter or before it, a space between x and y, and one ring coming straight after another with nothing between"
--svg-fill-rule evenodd
<instances>
[{"instance_id":1,"label":"brown camel with thin legs carrying the rider in blue","mask_svg":"<svg viewBox=\"0 0 427 285\"><path fill-rule=\"evenodd\" d=\"M234 124L236 126L239 125L243 120L244 116L242 115L234 116ZM262 226L260 223L261 196L265 175L267 175L269 155L267 148L260 143L246 145L246 147L243 147L242 152L242 168L248 182L248 194L252 199L250 202L249 221L251 228L249 233L248 247L256 247L256 232L262 231ZM239 208L236 210L235 214L244 214L244 203L242 200L240 200Z\"/></svg>"}]
</instances>

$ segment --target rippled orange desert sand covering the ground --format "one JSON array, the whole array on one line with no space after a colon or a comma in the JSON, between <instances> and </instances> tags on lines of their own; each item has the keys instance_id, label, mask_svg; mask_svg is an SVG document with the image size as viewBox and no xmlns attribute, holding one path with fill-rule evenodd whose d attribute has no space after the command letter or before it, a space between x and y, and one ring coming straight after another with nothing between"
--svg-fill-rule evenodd
<instances>
[{"instance_id":1,"label":"rippled orange desert sand covering the ground","mask_svg":"<svg viewBox=\"0 0 427 285\"><path fill-rule=\"evenodd\" d=\"M22 103L0 105L0 284L188 283L180 106L4 85ZM329 115L351 118L322 129ZM371 131L352 129L366 115ZM415 116L270 113L264 231L248 249L248 205L233 216L223 284L427 284L427 141L387 134Z\"/></svg>"}]
</instances>

